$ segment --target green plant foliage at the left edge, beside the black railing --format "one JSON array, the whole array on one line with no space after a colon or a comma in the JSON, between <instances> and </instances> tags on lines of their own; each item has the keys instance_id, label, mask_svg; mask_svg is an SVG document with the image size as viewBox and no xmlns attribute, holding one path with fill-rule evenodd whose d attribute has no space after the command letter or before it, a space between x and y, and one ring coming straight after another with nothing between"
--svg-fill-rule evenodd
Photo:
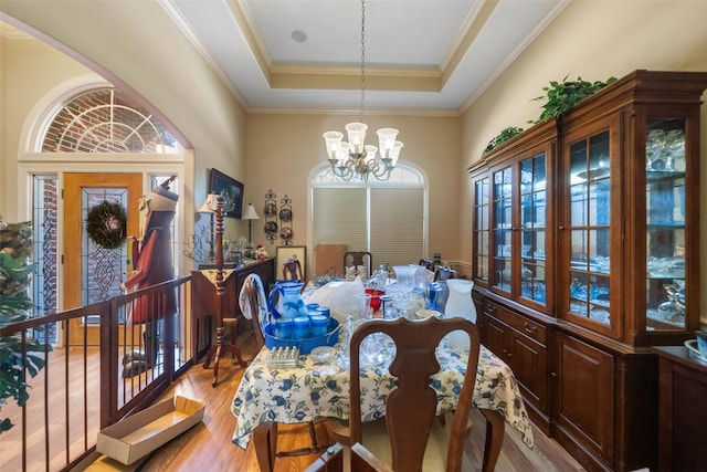
<instances>
[{"instance_id":1,"label":"green plant foliage at the left edge, beside the black railing","mask_svg":"<svg viewBox=\"0 0 707 472\"><path fill-rule=\"evenodd\" d=\"M28 296L28 286L35 269L35 264L29 263L31 256L31 223L8 224L0 218L0 327L31 316L33 304ZM24 406L30 398L27 375L35 377L44 367L43 343L25 338L27 363L22 360L22 333L0 337L0 409L8 398ZM12 426L9 418L0 420L0 433Z\"/></svg>"}]
</instances>

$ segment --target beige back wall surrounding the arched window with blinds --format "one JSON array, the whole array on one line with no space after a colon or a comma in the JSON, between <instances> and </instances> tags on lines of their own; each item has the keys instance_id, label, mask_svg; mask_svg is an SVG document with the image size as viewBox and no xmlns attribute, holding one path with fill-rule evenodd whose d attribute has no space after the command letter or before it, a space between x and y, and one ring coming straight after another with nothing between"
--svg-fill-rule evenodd
<instances>
[{"instance_id":1,"label":"beige back wall surrounding the arched window with blinds","mask_svg":"<svg viewBox=\"0 0 707 472\"><path fill-rule=\"evenodd\" d=\"M261 218L264 196L272 189L277 198L287 195L293 200L294 245L307 244L309 212L308 179L326 159L321 135L344 126L358 116L249 114L247 171L245 196L256 207ZM454 176L464 171L461 155L458 117L411 117L371 115L365 118L369 127L367 140L377 144L376 129L394 127L404 143L401 161L423 171L430 193L429 253L441 252L445 259L458 258L461 181ZM394 238L395 228L390 228ZM265 240L263 222L253 223L253 240L274 254L275 247ZM312 248L307 259L312 261ZM308 272L309 273L309 272Z\"/></svg>"}]
</instances>

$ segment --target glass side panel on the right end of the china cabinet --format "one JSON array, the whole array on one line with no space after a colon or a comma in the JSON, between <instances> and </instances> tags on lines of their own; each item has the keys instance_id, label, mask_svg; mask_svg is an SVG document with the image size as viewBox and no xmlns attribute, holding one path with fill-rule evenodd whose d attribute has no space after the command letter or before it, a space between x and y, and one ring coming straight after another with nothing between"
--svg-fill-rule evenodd
<instances>
[{"instance_id":1,"label":"glass side panel on the right end of the china cabinet","mask_svg":"<svg viewBox=\"0 0 707 472\"><path fill-rule=\"evenodd\" d=\"M648 119L646 329L685 329L685 119Z\"/></svg>"}]
</instances>

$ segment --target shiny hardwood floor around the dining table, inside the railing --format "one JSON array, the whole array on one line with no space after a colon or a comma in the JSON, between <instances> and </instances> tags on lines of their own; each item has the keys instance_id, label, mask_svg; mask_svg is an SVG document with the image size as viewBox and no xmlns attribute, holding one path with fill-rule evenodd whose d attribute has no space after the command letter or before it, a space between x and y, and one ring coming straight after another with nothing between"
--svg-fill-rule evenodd
<instances>
[{"instance_id":1,"label":"shiny hardwood floor around the dining table, inside the railing","mask_svg":"<svg viewBox=\"0 0 707 472\"><path fill-rule=\"evenodd\" d=\"M252 337L244 323L240 324L242 334L239 345L245 359L250 359L256 352ZM203 369L202 364L192 367L188 375L178 379L163 398L182 395L203 401L207 405L203 422L176 438L171 442L155 451L146 461L131 468L117 470L149 471L233 471L257 472L260 469L255 460L255 452L251 445L244 451L231 442L235 419L231 415L230 405L235 389L241 381L244 369L233 366L230 358L222 359L219 367L219 385L213 388L211 380L213 370ZM484 448L484 417L473 412L474 428L467 441L465 470L481 470L481 458ZM278 447L281 450L292 450L310 444L307 424L279 427ZM583 471L557 442L545 437L534 428L535 449L530 450L520 440L513 428L506 428L506 438L496 471ZM324 424L317 423L317 439L327 443ZM275 472L299 472L304 470L316 455L297 458L279 458L275 463ZM120 465L117 462L107 461Z\"/></svg>"}]
</instances>

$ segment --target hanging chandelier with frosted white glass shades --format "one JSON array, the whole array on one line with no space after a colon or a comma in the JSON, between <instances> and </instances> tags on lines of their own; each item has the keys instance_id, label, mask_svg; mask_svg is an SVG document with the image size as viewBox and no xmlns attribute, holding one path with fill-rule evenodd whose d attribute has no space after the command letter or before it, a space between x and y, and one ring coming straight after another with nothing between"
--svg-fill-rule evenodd
<instances>
[{"instance_id":1,"label":"hanging chandelier with frosted white glass shades","mask_svg":"<svg viewBox=\"0 0 707 472\"><path fill-rule=\"evenodd\" d=\"M361 119L346 125L348 141L344 133L327 132L324 141L327 147L327 160L335 176L344 180L358 178L367 181L369 177L388 180L398 164L402 143L395 140L398 129L381 128L378 134L378 147L366 145L363 111L366 104L366 0L361 0Z\"/></svg>"}]
</instances>

